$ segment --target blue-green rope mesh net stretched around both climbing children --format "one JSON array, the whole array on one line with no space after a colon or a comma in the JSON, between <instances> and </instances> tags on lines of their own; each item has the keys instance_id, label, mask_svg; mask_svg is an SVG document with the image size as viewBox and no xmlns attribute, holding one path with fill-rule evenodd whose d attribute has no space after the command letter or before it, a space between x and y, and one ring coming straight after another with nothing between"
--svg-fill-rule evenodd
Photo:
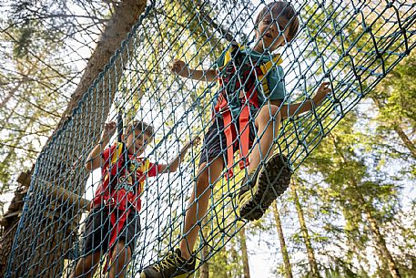
<instances>
[{"instance_id":1,"label":"blue-green rope mesh net stretched around both climbing children","mask_svg":"<svg viewBox=\"0 0 416 278\"><path fill-rule=\"evenodd\" d=\"M307 105L326 80L332 90L322 105L284 119L275 135L278 152L296 170L340 119L410 53L415 46L415 4L351 0L291 4L299 12L299 32L278 51L283 57L285 103ZM83 256L89 201L103 180L99 170L91 173L84 165L105 122L117 122L121 115L124 127L134 119L151 123L154 137L144 156L159 164L174 160L192 139L204 137L218 98L216 82L178 77L169 67L180 59L192 68L213 69L232 42L252 46L254 18L263 6L262 1L161 0L147 6L36 161L6 277L68 277ZM110 139L110 145L115 143L117 135ZM102 153L107 146L100 148ZM140 219L141 231L136 229L127 276L137 276L166 258L187 236L182 230L201 152L201 145L192 144L178 170L146 179L142 209L134 218ZM247 222L237 213L247 170L239 170L237 156L235 162L231 179L221 175L209 180L208 212L196 221L203 232L190 247L197 268ZM102 266L107 256L101 253L96 263Z\"/></svg>"}]
</instances>

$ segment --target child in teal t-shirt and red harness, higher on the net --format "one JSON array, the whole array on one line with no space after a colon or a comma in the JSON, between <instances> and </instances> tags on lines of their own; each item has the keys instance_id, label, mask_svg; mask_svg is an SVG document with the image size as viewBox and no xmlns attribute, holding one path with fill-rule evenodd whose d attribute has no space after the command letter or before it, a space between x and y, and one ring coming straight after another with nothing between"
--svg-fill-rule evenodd
<instances>
[{"instance_id":1,"label":"child in teal t-shirt and red harness, higher on the net","mask_svg":"<svg viewBox=\"0 0 416 278\"><path fill-rule=\"evenodd\" d=\"M148 266L141 278L186 276L195 268L192 256L200 223L208 210L212 186L226 170L233 175L234 152L239 150L239 167L247 170L238 194L242 219L258 220L288 187L291 170L286 157L275 154L280 121L309 111L330 93L329 83L320 85L311 102L288 106L282 60L272 52L296 36L299 18L288 2L266 5L255 21L252 48L229 46L218 58L215 69L191 69L180 60L172 71L181 77L218 82L210 122L199 160L197 184L189 200L179 248L166 259Z\"/></svg>"}]
</instances>

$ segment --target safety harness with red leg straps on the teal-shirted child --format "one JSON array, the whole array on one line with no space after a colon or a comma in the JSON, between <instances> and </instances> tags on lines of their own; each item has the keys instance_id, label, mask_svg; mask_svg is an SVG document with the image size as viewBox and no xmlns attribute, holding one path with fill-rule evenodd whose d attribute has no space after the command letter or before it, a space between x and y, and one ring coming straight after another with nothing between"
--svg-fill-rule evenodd
<instances>
[{"instance_id":1,"label":"safety harness with red leg straps on the teal-shirted child","mask_svg":"<svg viewBox=\"0 0 416 278\"><path fill-rule=\"evenodd\" d=\"M220 115L224 121L228 156L227 179L233 176L235 142L239 142L239 168L249 166L249 146L252 143L249 139L250 107L259 109L259 92L265 96L269 94L266 75L273 63L281 62L278 56L265 64L256 63L253 66L240 49L243 47L232 45L225 54L224 66L220 67L218 75L219 95L213 113L213 117ZM229 99L238 99L238 105L241 107L238 115L239 134L233 122Z\"/></svg>"}]
</instances>

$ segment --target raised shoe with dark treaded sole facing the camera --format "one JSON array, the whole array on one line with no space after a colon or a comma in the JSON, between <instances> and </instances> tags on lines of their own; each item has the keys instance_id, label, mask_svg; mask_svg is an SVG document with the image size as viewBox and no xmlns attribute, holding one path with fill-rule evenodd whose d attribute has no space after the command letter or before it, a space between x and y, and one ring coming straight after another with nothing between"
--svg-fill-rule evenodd
<instances>
[{"instance_id":1,"label":"raised shoe with dark treaded sole facing the camera","mask_svg":"<svg viewBox=\"0 0 416 278\"><path fill-rule=\"evenodd\" d=\"M289 188L292 171L287 161L285 156L277 154L262 166L254 187L239 197L239 215L242 219L259 220L271 203Z\"/></svg>"}]
</instances>

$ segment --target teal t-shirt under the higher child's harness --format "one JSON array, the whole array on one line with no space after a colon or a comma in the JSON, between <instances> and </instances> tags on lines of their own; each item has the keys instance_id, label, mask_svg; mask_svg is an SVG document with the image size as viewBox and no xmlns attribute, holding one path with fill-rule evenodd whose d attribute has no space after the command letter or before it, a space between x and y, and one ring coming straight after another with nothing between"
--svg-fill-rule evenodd
<instances>
[{"instance_id":1,"label":"teal t-shirt under the higher child's harness","mask_svg":"<svg viewBox=\"0 0 416 278\"><path fill-rule=\"evenodd\" d=\"M228 48L229 49L229 48ZM224 50L221 56L217 60L217 67L225 66L224 59L228 49ZM270 60L272 60L272 56L270 54L261 54L259 52L254 51L253 49L246 47L243 49L239 49L241 54L244 55L244 62L249 63L251 65L263 65ZM268 87L269 87L269 99L270 100L283 100L285 98L286 89L284 83L284 73L283 67L278 65L274 65L270 68L268 74L266 75ZM258 97L259 97L259 107L262 107L266 104L268 96L264 96L261 90L258 90ZM215 101L217 102L217 100ZM228 105L232 110L233 116L238 116L239 111L241 109L240 104L238 103L238 99L228 99ZM253 115L254 116L254 115Z\"/></svg>"}]
</instances>

